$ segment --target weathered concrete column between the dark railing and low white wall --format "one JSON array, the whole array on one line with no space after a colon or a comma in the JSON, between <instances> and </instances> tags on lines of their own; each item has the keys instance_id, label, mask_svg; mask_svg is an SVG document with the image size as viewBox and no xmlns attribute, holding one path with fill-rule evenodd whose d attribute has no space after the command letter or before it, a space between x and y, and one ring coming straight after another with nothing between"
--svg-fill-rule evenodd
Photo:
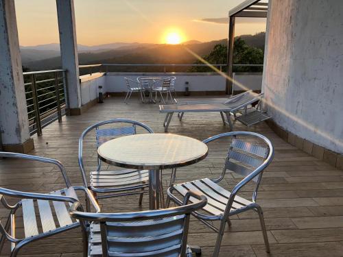
<instances>
[{"instance_id":1,"label":"weathered concrete column between the dark railing and low white wall","mask_svg":"<svg viewBox=\"0 0 343 257\"><path fill-rule=\"evenodd\" d=\"M62 69L66 73L67 115L81 114L81 90L73 0L56 0Z\"/></svg>"}]
</instances>

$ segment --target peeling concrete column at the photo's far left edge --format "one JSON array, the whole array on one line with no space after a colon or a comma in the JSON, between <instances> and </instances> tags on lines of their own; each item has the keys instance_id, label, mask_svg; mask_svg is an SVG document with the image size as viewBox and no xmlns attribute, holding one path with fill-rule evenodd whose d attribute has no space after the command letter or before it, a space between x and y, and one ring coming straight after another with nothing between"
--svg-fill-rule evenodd
<instances>
[{"instance_id":1,"label":"peeling concrete column at the photo's far left edge","mask_svg":"<svg viewBox=\"0 0 343 257\"><path fill-rule=\"evenodd\" d=\"M27 153L29 137L23 69L13 0L0 0L0 134L2 149Z\"/></svg>"}]
</instances>

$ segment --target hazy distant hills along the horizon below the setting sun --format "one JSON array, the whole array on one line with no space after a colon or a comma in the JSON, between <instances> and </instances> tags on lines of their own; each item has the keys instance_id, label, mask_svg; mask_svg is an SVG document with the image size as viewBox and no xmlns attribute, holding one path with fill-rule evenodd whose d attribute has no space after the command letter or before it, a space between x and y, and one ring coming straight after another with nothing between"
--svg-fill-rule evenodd
<instances>
[{"instance_id":1,"label":"hazy distant hills along the horizon below the setting sun","mask_svg":"<svg viewBox=\"0 0 343 257\"><path fill-rule=\"evenodd\" d=\"M239 36L253 47L264 49L264 33ZM237 38L237 37L236 37ZM79 63L82 64L191 64L197 59L187 49L198 56L205 56L215 45L227 44L227 39L200 42L190 40L181 45L141 44L141 43L113 43L97 46L78 45ZM58 45L59 47L59 45ZM53 50L55 49L55 50ZM35 52L36 51L36 52ZM60 52L56 51L56 44L22 47L23 65L31 71L60 68ZM37 53L37 54L36 54ZM41 53L41 54L40 54ZM35 58L35 56L40 56ZM49 56L43 58L43 56ZM118 71L136 71L121 67ZM147 69L146 71L153 71Z\"/></svg>"}]
</instances>

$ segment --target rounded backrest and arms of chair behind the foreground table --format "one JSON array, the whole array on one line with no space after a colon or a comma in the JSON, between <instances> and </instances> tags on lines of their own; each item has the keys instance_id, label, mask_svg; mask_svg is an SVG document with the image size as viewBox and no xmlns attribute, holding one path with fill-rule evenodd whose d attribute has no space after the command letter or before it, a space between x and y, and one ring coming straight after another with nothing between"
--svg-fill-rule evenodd
<instances>
[{"instance_id":1,"label":"rounded backrest and arms of chair behind the foreground table","mask_svg":"<svg viewBox=\"0 0 343 257\"><path fill-rule=\"evenodd\" d=\"M84 169L83 163L83 143L84 138L88 135L88 133L94 131L95 140L96 140L96 148L100 145L105 143L106 141L117 138L120 136L128 136L137 134L137 127L141 127L144 132L154 133L150 127L145 125L144 123L140 123L139 121L131 121L128 119L111 119L108 121L100 121L88 127L79 139L79 165L82 172L82 178L84 180L84 186L87 186L86 180L86 171ZM101 160L97 159L97 171L101 169Z\"/></svg>"}]
</instances>

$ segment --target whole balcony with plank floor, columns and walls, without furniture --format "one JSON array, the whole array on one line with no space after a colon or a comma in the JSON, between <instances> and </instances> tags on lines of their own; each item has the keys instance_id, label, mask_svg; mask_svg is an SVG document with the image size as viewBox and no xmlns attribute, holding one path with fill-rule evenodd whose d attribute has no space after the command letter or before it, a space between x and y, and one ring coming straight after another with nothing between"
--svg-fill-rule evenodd
<instances>
[{"instance_id":1,"label":"whole balcony with plank floor, columns and walls, without furniture","mask_svg":"<svg viewBox=\"0 0 343 257\"><path fill-rule=\"evenodd\" d=\"M87 65L79 70L72 1L57 2L59 17L63 18L59 18L62 69L23 73L23 76L14 5L11 0L3 0L6 10L0 5L0 36L5 35L0 37L3 47L0 55L1 150L56 158L65 165L72 184L78 185L82 184L78 138L86 127L106 119L128 118L163 133L165 115L158 112L157 104L139 103L135 96L128 104L123 102L126 92L123 78L136 79L146 73L116 71L115 66L122 64ZM239 92L241 85L244 90L261 90L264 94L263 107L272 120L251 127L235 121L234 130L263 134L272 140L275 148L274 160L263 174L258 195L271 254L265 252L257 215L245 212L232 217L232 226L224 232L220 256L342 256L343 38L338 28L342 25L343 4L342 1L326 1L325 4L323 1L311 1L311 4L300 0L270 1L263 73L231 73L235 65L230 62L235 18L267 16L267 3L258 2L246 0L229 12L228 64L216 64L213 73L180 73L174 70L174 64L160 64L161 71L149 75L175 75L178 98L190 101L227 97L229 93ZM223 74L226 65L228 73ZM97 103L99 86L103 86L104 103ZM187 97L186 87L189 89ZM172 119L169 125L169 132L199 140L228 131L229 127L222 124L216 113L187 114L182 121ZM177 181L217 177L222 172L227 147L225 143L218 143L206 159L178 169ZM96 164L93 150L95 147L85 151L88 169ZM0 173L0 186L4 188L46 193L64 187L60 173L49 165L29 162L23 167L18 160L1 159ZM165 188L169 173L164 173ZM238 175L229 173L221 183L232 188L240 180ZM249 185L241 195L249 197L251 191ZM148 208L147 195L143 206L139 207L137 201L135 196L107 199L103 201L102 211ZM0 208L1 218L7 213L8 210ZM21 213L18 217L22 228ZM212 256L216 236L191 219L189 244L200 245L202 256ZM10 254L10 245L6 244L2 256ZM82 256L80 230L38 241L24 247L20 254Z\"/></svg>"}]
</instances>

